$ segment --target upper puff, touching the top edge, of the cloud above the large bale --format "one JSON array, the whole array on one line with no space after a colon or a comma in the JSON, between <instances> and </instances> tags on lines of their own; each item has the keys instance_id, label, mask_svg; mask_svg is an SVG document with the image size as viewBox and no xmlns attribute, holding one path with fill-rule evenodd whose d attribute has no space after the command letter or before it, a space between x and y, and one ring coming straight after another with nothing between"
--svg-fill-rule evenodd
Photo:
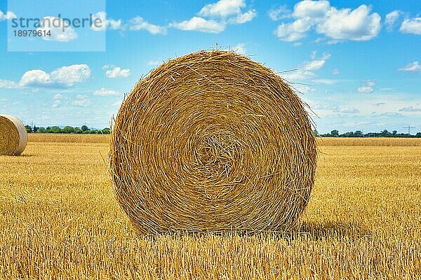
<instances>
[{"instance_id":1,"label":"upper puff, touching the top edge, of the cloud above the large bale","mask_svg":"<svg viewBox=\"0 0 421 280\"><path fill-rule=\"evenodd\" d=\"M241 8L244 8L246 3L244 0L220 0L216 3L211 3L201 8L199 15L208 17L222 17L228 15L236 15L241 13Z\"/></svg>"}]
</instances>

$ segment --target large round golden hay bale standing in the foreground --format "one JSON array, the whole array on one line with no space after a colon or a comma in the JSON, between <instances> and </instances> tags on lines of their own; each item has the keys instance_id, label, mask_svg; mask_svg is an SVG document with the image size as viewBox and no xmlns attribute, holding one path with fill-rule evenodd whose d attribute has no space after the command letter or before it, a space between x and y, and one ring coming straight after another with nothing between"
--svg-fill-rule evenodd
<instances>
[{"instance_id":1,"label":"large round golden hay bale standing in the foreground","mask_svg":"<svg viewBox=\"0 0 421 280\"><path fill-rule=\"evenodd\" d=\"M302 101L234 52L154 69L121 105L110 147L116 200L142 233L290 230L314 184Z\"/></svg>"}]
</instances>

